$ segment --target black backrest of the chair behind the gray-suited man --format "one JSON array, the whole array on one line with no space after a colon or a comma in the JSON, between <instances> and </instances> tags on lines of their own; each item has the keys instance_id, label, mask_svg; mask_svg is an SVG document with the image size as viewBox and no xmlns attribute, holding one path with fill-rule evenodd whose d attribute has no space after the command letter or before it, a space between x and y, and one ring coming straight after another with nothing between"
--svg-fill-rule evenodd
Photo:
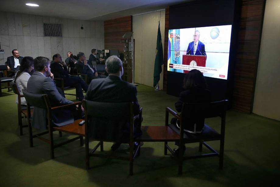
<instances>
[{"instance_id":1,"label":"black backrest of the chair behind the gray-suited man","mask_svg":"<svg viewBox=\"0 0 280 187\"><path fill-rule=\"evenodd\" d=\"M30 92L27 92L26 90L22 90L22 92L26 99L26 102L29 105L47 110L47 105L46 105L46 101L45 101L45 99L47 99L46 94L30 93Z\"/></svg>"}]
</instances>

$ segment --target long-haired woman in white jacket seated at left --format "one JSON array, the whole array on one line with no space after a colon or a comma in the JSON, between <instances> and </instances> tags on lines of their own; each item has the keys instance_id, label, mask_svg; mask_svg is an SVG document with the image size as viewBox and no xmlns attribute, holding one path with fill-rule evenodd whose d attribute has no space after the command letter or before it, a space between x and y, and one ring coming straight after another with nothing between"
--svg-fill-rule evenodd
<instances>
[{"instance_id":1,"label":"long-haired woman in white jacket seated at left","mask_svg":"<svg viewBox=\"0 0 280 187\"><path fill-rule=\"evenodd\" d=\"M22 95L22 90L27 88L28 79L31 77L31 72L34 69L33 58L31 56L26 56L22 59L19 71L16 73L14 82L19 88L19 93ZM16 103L18 102L18 97L16 97ZM21 98L21 104L26 105L26 100L24 97Z\"/></svg>"}]
</instances>

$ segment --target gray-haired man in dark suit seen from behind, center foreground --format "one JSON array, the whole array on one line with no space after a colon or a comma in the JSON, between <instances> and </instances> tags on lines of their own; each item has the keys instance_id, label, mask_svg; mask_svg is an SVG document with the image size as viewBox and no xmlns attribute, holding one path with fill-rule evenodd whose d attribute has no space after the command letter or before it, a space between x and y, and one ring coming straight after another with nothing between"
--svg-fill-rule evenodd
<instances>
[{"instance_id":1,"label":"gray-haired man in dark suit seen from behind, center foreground","mask_svg":"<svg viewBox=\"0 0 280 187\"><path fill-rule=\"evenodd\" d=\"M110 56L106 60L106 71L109 74L107 78L94 79L91 81L85 99L98 102L133 102L134 116L137 116L139 114L137 89L134 85L121 79L121 76L124 74L121 59L117 56ZM114 119L112 120L114 121ZM90 123L94 122L95 120L90 121ZM109 120L109 123L112 123L112 121ZM142 134L139 118L135 120L134 130L135 137ZM126 141L126 138L128 138L129 135L128 123L123 124L122 131L120 133L122 133L123 136L122 141ZM119 142L114 143L111 149L116 150L120 144L121 143Z\"/></svg>"}]
</instances>

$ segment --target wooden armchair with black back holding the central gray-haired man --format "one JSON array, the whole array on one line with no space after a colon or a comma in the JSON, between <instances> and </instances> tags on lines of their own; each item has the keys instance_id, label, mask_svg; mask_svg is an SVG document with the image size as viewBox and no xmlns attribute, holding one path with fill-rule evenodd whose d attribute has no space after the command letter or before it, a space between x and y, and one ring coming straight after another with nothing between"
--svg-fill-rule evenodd
<instances>
[{"instance_id":1,"label":"wooden armchair with black back holding the central gray-haired man","mask_svg":"<svg viewBox=\"0 0 280 187\"><path fill-rule=\"evenodd\" d=\"M89 158L90 156L96 157L107 157L113 159L121 159L129 161L129 174L133 174L133 160L135 159L138 150L140 149L140 144L138 144L135 151L133 150L133 129L134 120L133 115L133 103L122 102L122 103L109 103L109 102L94 102L84 100L85 109L85 142L86 142L86 168L89 169ZM142 108L140 115L142 115ZM100 123L89 124L89 119L97 119ZM104 121L103 121L104 120ZM91 120L92 121L92 120ZM130 146L129 156L120 157L114 155L96 154L96 149L100 146L100 151L103 151L103 142L116 142L120 139L120 125L122 122L129 121L129 140ZM103 123L104 122L104 123ZM113 130L112 130L113 129ZM99 143L94 147L92 151L89 151L89 139L99 141Z\"/></svg>"}]
</instances>

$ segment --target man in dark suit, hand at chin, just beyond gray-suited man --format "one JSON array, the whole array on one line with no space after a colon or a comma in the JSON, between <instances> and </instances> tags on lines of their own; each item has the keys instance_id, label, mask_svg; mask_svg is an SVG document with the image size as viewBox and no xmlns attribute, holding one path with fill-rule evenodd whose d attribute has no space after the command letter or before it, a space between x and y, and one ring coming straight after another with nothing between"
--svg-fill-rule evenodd
<instances>
[{"instance_id":1,"label":"man in dark suit, hand at chin, just beyond gray-suited man","mask_svg":"<svg viewBox=\"0 0 280 187\"><path fill-rule=\"evenodd\" d=\"M84 99L82 89L86 92L88 89L88 85L85 83L84 80L82 80L81 77L71 77L68 74L68 69L66 67L66 64L62 61L60 54L55 54L53 56L53 62L51 63L51 72L54 74L55 78L63 79L65 87L71 86L76 88L79 101L82 101ZM59 85L59 81L56 81L56 84L58 87L61 86Z\"/></svg>"}]
</instances>

